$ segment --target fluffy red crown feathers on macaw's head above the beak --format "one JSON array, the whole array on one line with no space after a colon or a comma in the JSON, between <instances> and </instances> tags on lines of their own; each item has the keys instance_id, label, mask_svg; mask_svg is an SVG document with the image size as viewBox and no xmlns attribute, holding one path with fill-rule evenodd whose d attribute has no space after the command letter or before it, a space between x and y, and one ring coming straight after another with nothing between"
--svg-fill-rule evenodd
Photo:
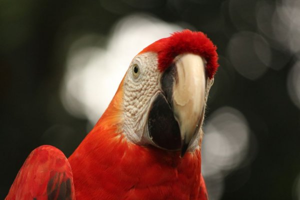
<instances>
[{"instance_id":1,"label":"fluffy red crown feathers on macaw's head above the beak","mask_svg":"<svg viewBox=\"0 0 300 200\"><path fill-rule=\"evenodd\" d=\"M211 79L219 64L217 63L216 46L203 32L188 29L174 32L171 36L159 39L139 52L153 51L158 54L158 68L164 71L174 57L182 53L194 53L205 58L206 72Z\"/></svg>"}]
</instances>

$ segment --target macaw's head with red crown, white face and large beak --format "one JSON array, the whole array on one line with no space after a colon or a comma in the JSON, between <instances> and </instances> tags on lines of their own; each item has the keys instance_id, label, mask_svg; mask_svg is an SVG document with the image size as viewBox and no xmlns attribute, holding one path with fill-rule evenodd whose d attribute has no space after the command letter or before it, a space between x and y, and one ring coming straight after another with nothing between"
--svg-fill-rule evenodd
<instances>
[{"instance_id":1,"label":"macaw's head with red crown, white face and large beak","mask_svg":"<svg viewBox=\"0 0 300 200\"><path fill-rule=\"evenodd\" d=\"M105 124L117 125L134 144L181 156L194 150L217 59L216 46L202 32L183 30L155 41L132 59L103 114Z\"/></svg>"}]
</instances>

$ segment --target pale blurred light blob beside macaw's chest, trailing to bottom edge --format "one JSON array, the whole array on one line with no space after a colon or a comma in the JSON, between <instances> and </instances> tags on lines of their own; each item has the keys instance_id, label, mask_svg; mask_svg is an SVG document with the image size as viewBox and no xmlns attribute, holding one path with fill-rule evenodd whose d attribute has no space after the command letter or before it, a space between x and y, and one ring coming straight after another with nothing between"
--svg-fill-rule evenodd
<instances>
[{"instance_id":1,"label":"pale blurred light blob beside macaw's chest, trailing to bottom edge","mask_svg":"<svg viewBox=\"0 0 300 200\"><path fill-rule=\"evenodd\" d=\"M204 126L202 172L210 199L220 199L223 178L248 154L250 131L246 118L232 107L214 111Z\"/></svg>"}]
</instances>

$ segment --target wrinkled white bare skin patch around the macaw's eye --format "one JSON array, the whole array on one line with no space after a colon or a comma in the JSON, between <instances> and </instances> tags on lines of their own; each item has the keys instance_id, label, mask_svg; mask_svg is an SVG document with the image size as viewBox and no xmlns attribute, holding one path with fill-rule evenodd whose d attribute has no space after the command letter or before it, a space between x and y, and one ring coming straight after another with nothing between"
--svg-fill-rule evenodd
<instances>
[{"instance_id":1,"label":"wrinkled white bare skin patch around the macaw's eye","mask_svg":"<svg viewBox=\"0 0 300 200\"><path fill-rule=\"evenodd\" d=\"M133 143L147 143L143 134L151 101L159 92L159 79L156 53L146 52L134 57L123 85L123 133Z\"/></svg>"}]
</instances>

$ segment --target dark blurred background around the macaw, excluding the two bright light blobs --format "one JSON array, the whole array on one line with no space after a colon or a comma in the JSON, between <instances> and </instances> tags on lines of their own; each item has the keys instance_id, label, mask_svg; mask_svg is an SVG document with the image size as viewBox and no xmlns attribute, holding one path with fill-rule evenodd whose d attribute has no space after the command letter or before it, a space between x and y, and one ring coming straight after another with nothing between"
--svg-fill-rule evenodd
<instances>
[{"instance_id":1,"label":"dark blurred background around the macaw, excluding the two bright light blobs","mask_svg":"<svg viewBox=\"0 0 300 200\"><path fill-rule=\"evenodd\" d=\"M255 146L251 162L225 176L220 199L300 199L300 15L292 8L300 10L296 0L1 0L0 199L33 148L55 144L68 156L90 128L59 96L72 41L108 35L135 12L189 24L218 47L207 117L222 106L239 110Z\"/></svg>"}]
</instances>

